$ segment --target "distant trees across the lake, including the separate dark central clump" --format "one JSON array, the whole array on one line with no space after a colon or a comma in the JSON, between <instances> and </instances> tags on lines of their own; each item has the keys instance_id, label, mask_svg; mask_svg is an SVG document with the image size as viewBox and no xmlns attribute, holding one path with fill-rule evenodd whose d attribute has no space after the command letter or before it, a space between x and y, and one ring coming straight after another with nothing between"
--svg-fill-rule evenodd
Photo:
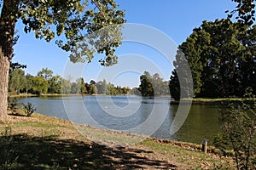
<instances>
[{"instance_id":1,"label":"distant trees across the lake, including the separate dark central clump","mask_svg":"<svg viewBox=\"0 0 256 170\"><path fill-rule=\"evenodd\" d=\"M9 70L9 94L136 94L144 97L170 95L169 82L163 81L158 73L150 75L145 71L140 77L138 88L115 86L105 79L99 82L84 82L80 77L75 82L71 77L63 78L54 75L53 71L43 68L37 76L26 74L23 67L12 67Z\"/></svg>"}]
</instances>

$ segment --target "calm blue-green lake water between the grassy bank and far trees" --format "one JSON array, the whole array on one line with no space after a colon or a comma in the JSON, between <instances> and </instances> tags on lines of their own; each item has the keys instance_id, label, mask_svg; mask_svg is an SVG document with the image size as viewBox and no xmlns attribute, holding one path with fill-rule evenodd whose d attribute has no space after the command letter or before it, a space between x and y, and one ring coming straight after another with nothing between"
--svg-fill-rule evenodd
<instances>
[{"instance_id":1,"label":"calm blue-green lake water between the grassy bank and far trees","mask_svg":"<svg viewBox=\"0 0 256 170\"><path fill-rule=\"evenodd\" d=\"M147 99L137 96L65 96L22 98L18 103L30 102L38 113L70 120L79 124L143 133L159 139L211 144L220 132L218 105L192 105L183 126L174 135L170 128L178 105L170 105L169 98Z\"/></svg>"}]
</instances>

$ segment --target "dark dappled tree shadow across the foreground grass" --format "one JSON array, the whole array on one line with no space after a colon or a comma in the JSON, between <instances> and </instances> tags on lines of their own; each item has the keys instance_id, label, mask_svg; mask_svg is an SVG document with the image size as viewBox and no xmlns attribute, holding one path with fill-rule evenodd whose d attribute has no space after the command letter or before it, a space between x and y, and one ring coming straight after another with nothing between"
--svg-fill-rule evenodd
<instances>
[{"instance_id":1,"label":"dark dappled tree shadow across the foreground grass","mask_svg":"<svg viewBox=\"0 0 256 170\"><path fill-rule=\"evenodd\" d=\"M0 137L1 169L134 169L169 168L166 161L151 160L151 151L109 147L55 136L31 137L27 134ZM139 155L139 156L138 156Z\"/></svg>"}]
</instances>

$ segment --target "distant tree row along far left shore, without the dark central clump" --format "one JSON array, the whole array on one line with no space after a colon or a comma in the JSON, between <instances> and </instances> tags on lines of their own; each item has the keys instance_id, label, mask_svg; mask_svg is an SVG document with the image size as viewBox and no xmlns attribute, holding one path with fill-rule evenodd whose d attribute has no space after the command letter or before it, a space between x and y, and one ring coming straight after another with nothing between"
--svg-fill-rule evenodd
<instances>
[{"instance_id":1,"label":"distant tree row along far left shore, without the dark central clump","mask_svg":"<svg viewBox=\"0 0 256 170\"><path fill-rule=\"evenodd\" d=\"M53 71L43 68L37 76L25 75L21 68L9 70L9 94L128 94L130 88L114 86L106 80L84 82L80 77L76 82L71 78L54 76Z\"/></svg>"}]
</instances>

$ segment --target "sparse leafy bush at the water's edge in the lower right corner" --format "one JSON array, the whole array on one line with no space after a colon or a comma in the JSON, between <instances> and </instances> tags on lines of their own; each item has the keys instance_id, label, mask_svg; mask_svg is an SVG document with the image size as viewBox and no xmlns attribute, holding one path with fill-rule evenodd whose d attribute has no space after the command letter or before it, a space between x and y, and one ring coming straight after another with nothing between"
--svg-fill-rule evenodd
<instances>
[{"instance_id":1,"label":"sparse leafy bush at the water's edge in the lower right corner","mask_svg":"<svg viewBox=\"0 0 256 170\"><path fill-rule=\"evenodd\" d=\"M256 168L256 99L252 90L241 101L227 101L221 109L224 133L215 144L220 150L232 148L236 168Z\"/></svg>"}]
</instances>

